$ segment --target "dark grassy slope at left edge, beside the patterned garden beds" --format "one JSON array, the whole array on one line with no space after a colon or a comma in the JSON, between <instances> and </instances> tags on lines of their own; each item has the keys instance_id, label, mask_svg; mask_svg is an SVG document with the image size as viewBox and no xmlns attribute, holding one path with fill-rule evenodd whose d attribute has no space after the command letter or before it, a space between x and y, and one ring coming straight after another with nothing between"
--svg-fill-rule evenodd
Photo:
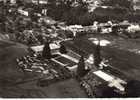
<instances>
[{"instance_id":1,"label":"dark grassy slope at left edge, beside the patterned garden beds","mask_svg":"<svg viewBox=\"0 0 140 100\"><path fill-rule=\"evenodd\" d=\"M23 73L18 70L16 58L28 53L27 46L1 40L0 52L0 78L16 81L23 77Z\"/></svg>"}]
</instances>

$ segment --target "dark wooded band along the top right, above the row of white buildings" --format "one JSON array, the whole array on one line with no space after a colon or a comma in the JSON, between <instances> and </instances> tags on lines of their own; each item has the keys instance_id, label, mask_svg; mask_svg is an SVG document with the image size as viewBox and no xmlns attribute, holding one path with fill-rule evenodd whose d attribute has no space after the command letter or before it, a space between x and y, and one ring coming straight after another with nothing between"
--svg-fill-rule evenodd
<instances>
[{"instance_id":1,"label":"dark wooded band along the top right, above the row of white buildings","mask_svg":"<svg viewBox=\"0 0 140 100\"><path fill-rule=\"evenodd\" d=\"M48 0L48 16L55 20L65 21L66 24L92 25L94 21L108 20L139 21L140 15L133 10L131 0L100 0L101 6L89 12L89 4L83 0ZM94 2L94 1L93 1Z\"/></svg>"}]
</instances>

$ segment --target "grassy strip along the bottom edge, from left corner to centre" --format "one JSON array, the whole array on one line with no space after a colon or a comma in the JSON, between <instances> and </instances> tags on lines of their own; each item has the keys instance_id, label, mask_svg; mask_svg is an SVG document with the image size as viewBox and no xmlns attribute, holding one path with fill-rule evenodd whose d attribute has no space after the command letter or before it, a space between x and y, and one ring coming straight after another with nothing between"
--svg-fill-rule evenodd
<instances>
[{"instance_id":1,"label":"grassy strip along the bottom edge, from left corner to centre","mask_svg":"<svg viewBox=\"0 0 140 100\"><path fill-rule=\"evenodd\" d=\"M87 94L75 79L46 87L38 87L36 81L0 88L0 95L4 98L87 98Z\"/></svg>"}]
</instances>

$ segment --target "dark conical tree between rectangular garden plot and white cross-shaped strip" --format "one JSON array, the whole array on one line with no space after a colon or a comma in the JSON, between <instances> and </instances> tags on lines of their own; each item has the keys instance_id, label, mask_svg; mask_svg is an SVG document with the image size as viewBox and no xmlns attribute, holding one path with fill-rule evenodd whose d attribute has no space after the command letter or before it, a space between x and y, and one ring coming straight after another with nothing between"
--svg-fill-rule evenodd
<instances>
[{"instance_id":1,"label":"dark conical tree between rectangular garden plot and white cross-shaped strip","mask_svg":"<svg viewBox=\"0 0 140 100\"><path fill-rule=\"evenodd\" d=\"M87 72L88 72L88 70L85 70L84 57L81 56L79 63L78 63L78 68L77 68L78 78L85 76L87 74Z\"/></svg>"}]
</instances>

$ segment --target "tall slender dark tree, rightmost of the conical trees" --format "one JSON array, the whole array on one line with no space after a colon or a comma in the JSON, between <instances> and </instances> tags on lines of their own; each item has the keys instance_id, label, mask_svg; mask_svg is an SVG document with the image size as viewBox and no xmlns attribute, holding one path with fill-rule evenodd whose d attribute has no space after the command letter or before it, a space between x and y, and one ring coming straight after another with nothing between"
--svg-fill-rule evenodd
<instances>
[{"instance_id":1,"label":"tall slender dark tree, rightmost of the conical trees","mask_svg":"<svg viewBox=\"0 0 140 100\"><path fill-rule=\"evenodd\" d=\"M96 45L95 51L94 51L94 65L95 66L99 66L100 62L101 62L101 54L100 54L100 41L99 43Z\"/></svg>"}]
</instances>

